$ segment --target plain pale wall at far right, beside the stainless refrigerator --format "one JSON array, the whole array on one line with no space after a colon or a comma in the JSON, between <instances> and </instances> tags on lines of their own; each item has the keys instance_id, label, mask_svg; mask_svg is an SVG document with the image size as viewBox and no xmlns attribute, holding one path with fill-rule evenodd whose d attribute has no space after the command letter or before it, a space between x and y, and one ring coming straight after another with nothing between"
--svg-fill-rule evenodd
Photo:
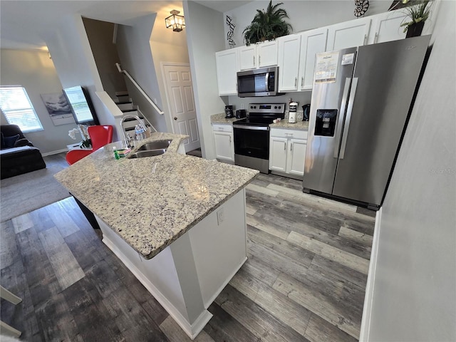
<instances>
[{"instance_id":1,"label":"plain pale wall at far right, beside the stainless refrigerator","mask_svg":"<svg viewBox=\"0 0 456 342\"><path fill-rule=\"evenodd\" d=\"M375 232L366 341L456 341L455 14L442 1Z\"/></svg>"}]
</instances>

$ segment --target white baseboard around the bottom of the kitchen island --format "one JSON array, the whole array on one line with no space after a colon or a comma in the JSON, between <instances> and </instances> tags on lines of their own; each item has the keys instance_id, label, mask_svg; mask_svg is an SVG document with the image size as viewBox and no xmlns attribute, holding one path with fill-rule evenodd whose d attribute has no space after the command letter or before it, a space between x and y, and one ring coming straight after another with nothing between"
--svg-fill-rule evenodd
<instances>
[{"instance_id":1,"label":"white baseboard around the bottom of the kitchen island","mask_svg":"<svg viewBox=\"0 0 456 342\"><path fill-rule=\"evenodd\" d=\"M142 274L142 272L135 266L135 264L125 257L125 255L118 249L113 242L106 236L103 236L103 243L108 246L108 248L113 251L116 257L127 266L127 268L135 275L136 279L140 281L142 285L147 289L147 291L152 294L152 296L163 306L163 309L167 311L168 314L176 321L176 323L182 328L182 330L189 336L192 340L197 337L197 335L202 331L204 326L212 318L212 314L204 310L196 319L193 324L190 324L187 319L180 314L180 312L175 308L174 305L166 299L166 297L147 279L147 277Z\"/></svg>"}]
</instances>

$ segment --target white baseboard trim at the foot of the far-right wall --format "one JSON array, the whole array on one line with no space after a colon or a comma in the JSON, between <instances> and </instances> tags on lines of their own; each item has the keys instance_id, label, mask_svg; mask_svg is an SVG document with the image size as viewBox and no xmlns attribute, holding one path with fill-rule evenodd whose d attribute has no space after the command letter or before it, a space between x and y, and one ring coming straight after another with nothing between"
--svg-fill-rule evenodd
<instances>
[{"instance_id":1,"label":"white baseboard trim at the foot of the far-right wall","mask_svg":"<svg viewBox=\"0 0 456 342\"><path fill-rule=\"evenodd\" d=\"M361 331L359 334L360 342L369 341L369 332L371 329L372 301L375 285L375 271L378 257L378 241L380 239L380 226L382 217L382 207L375 215L375 227L373 230L373 241L371 250L371 261L369 263L368 281L366 284L366 294L364 295L363 318L361 319Z\"/></svg>"}]
</instances>

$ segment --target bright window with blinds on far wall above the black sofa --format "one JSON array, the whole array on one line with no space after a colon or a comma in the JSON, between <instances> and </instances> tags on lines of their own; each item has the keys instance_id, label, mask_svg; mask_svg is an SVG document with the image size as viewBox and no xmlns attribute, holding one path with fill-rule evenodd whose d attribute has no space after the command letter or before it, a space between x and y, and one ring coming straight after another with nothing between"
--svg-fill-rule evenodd
<instances>
[{"instance_id":1,"label":"bright window with blinds on far wall above the black sofa","mask_svg":"<svg viewBox=\"0 0 456 342\"><path fill-rule=\"evenodd\" d=\"M40 119L22 86L0 87L0 109L10 125L18 125L23 133L43 130Z\"/></svg>"}]
</instances>

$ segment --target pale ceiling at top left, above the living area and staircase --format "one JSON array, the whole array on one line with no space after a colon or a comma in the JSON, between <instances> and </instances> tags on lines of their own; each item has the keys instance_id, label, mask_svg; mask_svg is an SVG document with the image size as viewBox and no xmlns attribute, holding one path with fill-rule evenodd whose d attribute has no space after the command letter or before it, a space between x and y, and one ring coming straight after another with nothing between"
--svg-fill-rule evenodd
<instances>
[{"instance_id":1,"label":"pale ceiling at top left, above the living area and staircase","mask_svg":"<svg viewBox=\"0 0 456 342\"><path fill-rule=\"evenodd\" d=\"M251 1L195 1L219 12ZM128 25L133 19L172 9L182 11L182 1L0 1L0 48L42 49L45 38L72 14Z\"/></svg>"}]
</instances>

